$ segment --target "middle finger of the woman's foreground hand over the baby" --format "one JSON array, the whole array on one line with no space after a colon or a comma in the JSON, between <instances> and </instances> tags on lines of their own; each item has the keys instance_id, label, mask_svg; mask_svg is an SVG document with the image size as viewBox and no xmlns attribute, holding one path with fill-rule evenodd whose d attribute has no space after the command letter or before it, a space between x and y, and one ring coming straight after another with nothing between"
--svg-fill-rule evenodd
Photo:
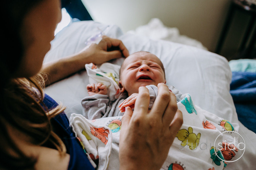
<instances>
[{"instance_id":1,"label":"middle finger of the woman's foreground hand over the baby","mask_svg":"<svg viewBox=\"0 0 256 170\"><path fill-rule=\"evenodd\" d=\"M150 113L154 114L154 116L158 115L162 119L164 111L170 101L170 92L168 86L164 83L158 83L157 88L158 96L156 97L156 100Z\"/></svg>"}]
</instances>

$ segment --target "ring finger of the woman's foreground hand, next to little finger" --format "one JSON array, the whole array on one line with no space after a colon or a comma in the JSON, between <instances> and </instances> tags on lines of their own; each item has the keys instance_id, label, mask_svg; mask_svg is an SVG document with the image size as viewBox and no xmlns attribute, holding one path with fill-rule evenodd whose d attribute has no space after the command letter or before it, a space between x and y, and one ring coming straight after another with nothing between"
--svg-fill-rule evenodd
<instances>
[{"instance_id":1,"label":"ring finger of the woman's foreground hand, next to little finger","mask_svg":"<svg viewBox=\"0 0 256 170\"><path fill-rule=\"evenodd\" d=\"M170 100L165 109L164 115L162 116L162 121L165 126L170 125L178 109L175 95L172 92L169 92L169 93L170 93Z\"/></svg>"}]
</instances>

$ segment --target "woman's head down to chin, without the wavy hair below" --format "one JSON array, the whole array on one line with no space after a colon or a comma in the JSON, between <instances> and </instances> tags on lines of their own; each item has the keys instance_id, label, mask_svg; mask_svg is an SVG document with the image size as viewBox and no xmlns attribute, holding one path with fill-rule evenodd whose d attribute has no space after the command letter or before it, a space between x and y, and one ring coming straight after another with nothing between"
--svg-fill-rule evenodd
<instances>
[{"instance_id":1,"label":"woman's head down to chin, without the wavy hair below","mask_svg":"<svg viewBox=\"0 0 256 170\"><path fill-rule=\"evenodd\" d=\"M61 20L59 0L9 0L3 7L4 54L1 67L10 77L31 77L39 72Z\"/></svg>"}]
</instances>

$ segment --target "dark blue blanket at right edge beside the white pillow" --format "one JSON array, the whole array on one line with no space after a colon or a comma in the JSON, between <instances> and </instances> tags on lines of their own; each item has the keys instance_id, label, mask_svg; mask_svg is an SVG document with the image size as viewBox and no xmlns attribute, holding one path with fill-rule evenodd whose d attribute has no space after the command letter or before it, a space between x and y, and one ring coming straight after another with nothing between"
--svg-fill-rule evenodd
<instances>
[{"instance_id":1,"label":"dark blue blanket at right edge beside the white pillow","mask_svg":"<svg viewBox=\"0 0 256 170\"><path fill-rule=\"evenodd\" d=\"M232 72L230 94L239 121L256 133L256 73Z\"/></svg>"}]
</instances>

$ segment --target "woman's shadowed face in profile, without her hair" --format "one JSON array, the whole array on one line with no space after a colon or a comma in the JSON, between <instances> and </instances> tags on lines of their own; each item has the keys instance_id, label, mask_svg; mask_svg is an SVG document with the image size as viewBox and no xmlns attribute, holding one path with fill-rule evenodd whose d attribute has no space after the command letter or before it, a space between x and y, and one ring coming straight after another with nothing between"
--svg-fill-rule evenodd
<instances>
[{"instance_id":1,"label":"woman's shadowed face in profile, without her hair","mask_svg":"<svg viewBox=\"0 0 256 170\"><path fill-rule=\"evenodd\" d=\"M16 72L17 76L30 77L39 72L60 20L59 0L42 1L27 13L20 30L24 55Z\"/></svg>"}]
</instances>

